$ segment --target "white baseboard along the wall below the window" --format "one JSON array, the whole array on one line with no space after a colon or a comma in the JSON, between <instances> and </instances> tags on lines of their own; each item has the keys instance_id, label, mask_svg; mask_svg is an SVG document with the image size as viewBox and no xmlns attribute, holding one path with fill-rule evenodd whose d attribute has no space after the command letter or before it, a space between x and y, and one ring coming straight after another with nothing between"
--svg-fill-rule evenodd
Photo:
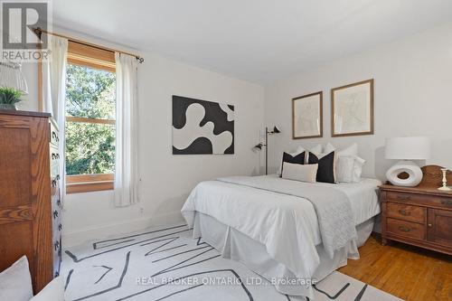
<instances>
[{"instance_id":1,"label":"white baseboard along the wall below the window","mask_svg":"<svg viewBox=\"0 0 452 301\"><path fill-rule=\"evenodd\" d=\"M67 249L72 246L80 245L81 243L89 240L105 239L108 236L143 230L147 227L176 224L181 222L185 222L181 212L171 212L151 218L123 221L110 225L102 225L97 228L63 233L61 244L63 249Z\"/></svg>"}]
</instances>

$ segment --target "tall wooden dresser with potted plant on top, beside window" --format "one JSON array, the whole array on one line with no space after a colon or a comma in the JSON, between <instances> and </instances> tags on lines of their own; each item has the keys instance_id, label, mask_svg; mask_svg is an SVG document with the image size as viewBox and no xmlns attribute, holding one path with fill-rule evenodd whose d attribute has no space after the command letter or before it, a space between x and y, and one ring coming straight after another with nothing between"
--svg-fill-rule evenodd
<instances>
[{"instance_id":1,"label":"tall wooden dresser with potted plant on top, beside window","mask_svg":"<svg viewBox=\"0 0 452 301\"><path fill-rule=\"evenodd\" d=\"M0 271L26 255L34 293L60 271L59 162L49 114L0 110Z\"/></svg>"}]
</instances>

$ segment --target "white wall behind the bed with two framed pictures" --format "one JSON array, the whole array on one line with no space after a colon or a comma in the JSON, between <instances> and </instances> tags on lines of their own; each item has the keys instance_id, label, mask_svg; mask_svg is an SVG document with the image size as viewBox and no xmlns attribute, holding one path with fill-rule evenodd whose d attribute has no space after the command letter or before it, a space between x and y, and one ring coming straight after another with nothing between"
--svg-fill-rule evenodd
<instances>
[{"instance_id":1,"label":"white wall behind the bed with two framed pictures","mask_svg":"<svg viewBox=\"0 0 452 301\"><path fill-rule=\"evenodd\" d=\"M331 137L330 89L375 79L375 135ZM429 136L428 164L452 167L452 24L430 29L352 57L330 61L320 68L266 87L265 123L282 134L271 140L271 166L281 152L298 145L311 147L359 145L367 160L363 173L384 179L393 164L384 159L386 137ZM324 91L324 136L293 140L291 99Z\"/></svg>"}]
</instances>

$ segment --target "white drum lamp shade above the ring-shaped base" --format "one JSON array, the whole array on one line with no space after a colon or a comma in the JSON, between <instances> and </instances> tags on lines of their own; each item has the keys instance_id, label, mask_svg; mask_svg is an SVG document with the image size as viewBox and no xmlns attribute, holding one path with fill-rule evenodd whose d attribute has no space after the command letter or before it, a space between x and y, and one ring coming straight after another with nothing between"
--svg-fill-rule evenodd
<instances>
[{"instance_id":1,"label":"white drum lamp shade above the ring-shaped base","mask_svg":"<svg viewBox=\"0 0 452 301\"><path fill-rule=\"evenodd\" d=\"M430 157L427 136L405 136L386 139L386 159L425 160Z\"/></svg>"}]
</instances>

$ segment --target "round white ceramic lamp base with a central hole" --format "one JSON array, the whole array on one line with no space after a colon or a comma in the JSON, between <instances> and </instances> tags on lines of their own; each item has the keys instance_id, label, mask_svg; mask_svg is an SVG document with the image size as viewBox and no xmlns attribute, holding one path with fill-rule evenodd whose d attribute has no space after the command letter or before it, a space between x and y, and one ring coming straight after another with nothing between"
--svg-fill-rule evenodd
<instances>
[{"instance_id":1,"label":"round white ceramic lamp base with a central hole","mask_svg":"<svg viewBox=\"0 0 452 301\"><path fill-rule=\"evenodd\" d=\"M401 173L407 173L408 178L400 179L399 174ZM422 175L419 165L412 161L400 161L386 172L386 178L389 182L396 186L405 187L417 186L422 180Z\"/></svg>"}]
</instances>

